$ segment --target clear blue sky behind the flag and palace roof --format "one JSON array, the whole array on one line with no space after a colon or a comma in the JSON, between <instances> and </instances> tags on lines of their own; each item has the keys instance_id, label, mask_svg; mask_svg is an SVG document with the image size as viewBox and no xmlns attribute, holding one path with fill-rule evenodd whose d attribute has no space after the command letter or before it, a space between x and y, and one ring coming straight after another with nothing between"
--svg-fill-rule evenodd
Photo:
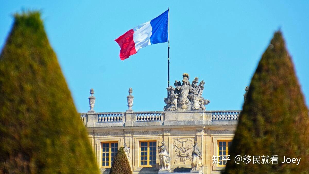
<instances>
[{"instance_id":1,"label":"clear blue sky behind the flag and palace roof","mask_svg":"<svg viewBox=\"0 0 309 174\"><path fill-rule=\"evenodd\" d=\"M309 1L1 1L0 48L12 14L40 10L49 41L79 112L162 111L167 87L167 43L119 59L114 41L170 7L171 84L182 73L205 80L207 110L240 110L261 55L281 27L309 103ZM263 102L263 101L261 101Z\"/></svg>"}]
</instances>

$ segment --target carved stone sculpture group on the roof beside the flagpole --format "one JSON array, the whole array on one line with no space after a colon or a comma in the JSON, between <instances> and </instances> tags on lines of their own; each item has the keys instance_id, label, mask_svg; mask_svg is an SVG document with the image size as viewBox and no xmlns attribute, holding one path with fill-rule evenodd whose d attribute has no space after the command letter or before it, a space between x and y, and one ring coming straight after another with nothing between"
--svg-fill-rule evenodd
<instances>
[{"instance_id":1,"label":"carved stone sculpture group on the roof beside the flagpole","mask_svg":"<svg viewBox=\"0 0 309 174\"><path fill-rule=\"evenodd\" d=\"M195 77L192 84L189 82L189 75L184 73L182 83L180 81L174 83L175 88L172 86L167 87L168 98L164 98L167 104L164 111L194 111L205 110L205 105L210 103L209 100L202 97L205 82L202 80L198 83L198 78Z\"/></svg>"}]
</instances>

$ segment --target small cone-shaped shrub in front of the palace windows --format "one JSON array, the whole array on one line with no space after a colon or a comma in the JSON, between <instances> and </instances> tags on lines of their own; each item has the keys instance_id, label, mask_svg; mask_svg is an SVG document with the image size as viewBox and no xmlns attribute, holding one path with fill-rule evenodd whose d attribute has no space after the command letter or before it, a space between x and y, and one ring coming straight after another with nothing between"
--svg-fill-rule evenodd
<instances>
[{"instance_id":1,"label":"small cone-shaped shrub in front of the palace windows","mask_svg":"<svg viewBox=\"0 0 309 174\"><path fill-rule=\"evenodd\" d=\"M132 170L123 147L119 148L109 174L132 174Z\"/></svg>"}]
</instances>

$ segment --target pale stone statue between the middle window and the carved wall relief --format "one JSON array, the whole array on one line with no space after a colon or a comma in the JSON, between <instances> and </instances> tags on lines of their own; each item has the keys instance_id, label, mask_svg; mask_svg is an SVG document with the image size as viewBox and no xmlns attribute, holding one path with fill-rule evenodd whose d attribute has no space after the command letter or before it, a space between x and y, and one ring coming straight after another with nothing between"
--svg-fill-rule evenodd
<instances>
[{"instance_id":1,"label":"pale stone statue between the middle window and the carved wall relief","mask_svg":"<svg viewBox=\"0 0 309 174\"><path fill-rule=\"evenodd\" d=\"M162 141L162 146L158 146L160 165L159 170L171 170L171 157L166 149L165 142Z\"/></svg>"}]
</instances>

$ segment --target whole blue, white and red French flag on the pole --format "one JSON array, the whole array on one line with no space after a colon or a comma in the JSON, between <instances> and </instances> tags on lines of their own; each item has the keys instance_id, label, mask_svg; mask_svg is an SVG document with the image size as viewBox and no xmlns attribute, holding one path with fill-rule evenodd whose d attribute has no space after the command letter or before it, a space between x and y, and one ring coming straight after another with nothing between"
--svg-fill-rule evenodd
<instances>
[{"instance_id":1,"label":"whole blue, white and red French flag on the pole","mask_svg":"<svg viewBox=\"0 0 309 174\"><path fill-rule=\"evenodd\" d=\"M168 13L165 11L158 17L130 29L115 41L120 46L120 59L124 60L147 45L168 41Z\"/></svg>"}]
</instances>

